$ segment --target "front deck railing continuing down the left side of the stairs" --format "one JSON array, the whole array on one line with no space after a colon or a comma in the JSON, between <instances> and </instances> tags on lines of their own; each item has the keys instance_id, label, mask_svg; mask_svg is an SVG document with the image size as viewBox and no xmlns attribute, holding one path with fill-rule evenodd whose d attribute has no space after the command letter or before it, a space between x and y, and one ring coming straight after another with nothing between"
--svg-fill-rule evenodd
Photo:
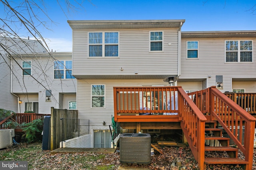
<instances>
[{"instance_id":1,"label":"front deck railing continuing down the left side of the stairs","mask_svg":"<svg viewBox=\"0 0 256 170\"><path fill-rule=\"evenodd\" d=\"M204 129L207 119L181 86L114 87L114 120L181 122L198 165L204 167Z\"/></svg>"}]
</instances>

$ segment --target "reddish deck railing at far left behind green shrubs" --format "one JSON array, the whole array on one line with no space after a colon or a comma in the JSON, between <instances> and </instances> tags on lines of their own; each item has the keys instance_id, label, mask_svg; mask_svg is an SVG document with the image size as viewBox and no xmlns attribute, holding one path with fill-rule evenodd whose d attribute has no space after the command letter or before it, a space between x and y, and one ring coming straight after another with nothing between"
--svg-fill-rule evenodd
<instances>
[{"instance_id":1,"label":"reddish deck railing at far left behind green shrubs","mask_svg":"<svg viewBox=\"0 0 256 170\"><path fill-rule=\"evenodd\" d=\"M51 114L38 114L38 113L14 113L9 117L6 117L3 121L0 122L0 129L4 129L5 127L4 122L10 120L10 121L16 121L18 124L22 123L29 123L35 119L40 119L44 116L50 116Z\"/></svg>"}]
</instances>

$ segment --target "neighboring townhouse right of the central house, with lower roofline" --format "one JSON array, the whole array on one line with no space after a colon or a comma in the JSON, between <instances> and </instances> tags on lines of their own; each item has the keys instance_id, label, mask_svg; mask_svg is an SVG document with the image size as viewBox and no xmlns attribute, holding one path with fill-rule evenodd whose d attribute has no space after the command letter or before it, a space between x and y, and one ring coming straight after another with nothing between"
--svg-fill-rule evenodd
<instances>
[{"instance_id":1,"label":"neighboring townhouse right of the central house, with lower roofline","mask_svg":"<svg viewBox=\"0 0 256 170\"><path fill-rule=\"evenodd\" d=\"M221 92L256 92L256 31L182 32L181 73L185 90L210 86Z\"/></svg>"}]
</instances>

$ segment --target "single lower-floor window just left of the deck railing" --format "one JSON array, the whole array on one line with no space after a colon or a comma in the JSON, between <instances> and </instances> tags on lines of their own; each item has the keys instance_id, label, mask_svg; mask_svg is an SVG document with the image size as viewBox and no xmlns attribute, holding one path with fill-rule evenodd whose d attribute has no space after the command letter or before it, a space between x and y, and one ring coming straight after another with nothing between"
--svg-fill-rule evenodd
<instances>
[{"instance_id":1,"label":"single lower-floor window just left of the deck railing","mask_svg":"<svg viewBox=\"0 0 256 170\"><path fill-rule=\"evenodd\" d=\"M105 107L104 85L92 85L92 107Z\"/></svg>"}]
</instances>

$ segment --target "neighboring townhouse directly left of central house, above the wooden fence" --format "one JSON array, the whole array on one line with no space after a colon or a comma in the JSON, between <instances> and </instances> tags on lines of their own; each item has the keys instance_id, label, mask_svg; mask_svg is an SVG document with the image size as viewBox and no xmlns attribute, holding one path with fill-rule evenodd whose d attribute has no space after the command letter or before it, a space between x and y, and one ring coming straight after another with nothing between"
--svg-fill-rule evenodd
<instances>
[{"instance_id":1,"label":"neighboring townhouse directly left of central house, above the wooden fence","mask_svg":"<svg viewBox=\"0 0 256 170\"><path fill-rule=\"evenodd\" d=\"M12 92L21 101L21 113L50 114L51 107L76 109L71 52L30 53L16 55L13 60Z\"/></svg>"}]
</instances>

